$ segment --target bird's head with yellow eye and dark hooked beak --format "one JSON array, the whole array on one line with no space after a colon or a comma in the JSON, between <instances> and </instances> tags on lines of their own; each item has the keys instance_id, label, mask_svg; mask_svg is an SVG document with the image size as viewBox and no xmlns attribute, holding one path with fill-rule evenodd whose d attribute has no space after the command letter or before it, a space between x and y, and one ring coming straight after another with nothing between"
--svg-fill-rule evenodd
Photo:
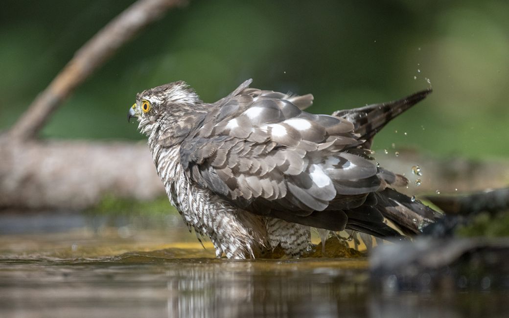
<instances>
[{"instance_id":1,"label":"bird's head with yellow eye and dark hooked beak","mask_svg":"<svg viewBox=\"0 0 509 318\"><path fill-rule=\"evenodd\" d=\"M187 135L201 113L200 97L186 82L177 81L138 93L127 119L137 118L140 132L162 141Z\"/></svg>"}]
</instances>

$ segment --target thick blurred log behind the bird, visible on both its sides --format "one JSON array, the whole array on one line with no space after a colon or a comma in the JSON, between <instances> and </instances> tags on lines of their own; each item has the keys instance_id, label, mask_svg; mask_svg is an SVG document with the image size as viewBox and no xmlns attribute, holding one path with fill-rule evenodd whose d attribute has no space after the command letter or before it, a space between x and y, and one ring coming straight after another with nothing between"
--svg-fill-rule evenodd
<instances>
[{"instance_id":1,"label":"thick blurred log behind the bird, visible on both its sides","mask_svg":"<svg viewBox=\"0 0 509 318\"><path fill-rule=\"evenodd\" d=\"M0 148L9 149L0 152L0 209L83 209L105 195L141 200L165 195L145 142L5 142L0 138ZM405 167L421 163L422 184L398 188L408 195L437 188L445 194L507 186L506 162L449 161L401 151L382 166L403 173ZM461 178L451 178L453 173Z\"/></svg>"}]
</instances>

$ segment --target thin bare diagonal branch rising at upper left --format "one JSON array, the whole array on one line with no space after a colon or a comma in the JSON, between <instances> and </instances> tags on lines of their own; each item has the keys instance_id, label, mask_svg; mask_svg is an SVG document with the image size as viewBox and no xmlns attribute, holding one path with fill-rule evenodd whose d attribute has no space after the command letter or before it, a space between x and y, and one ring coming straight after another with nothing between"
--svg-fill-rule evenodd
<instances>
[{"instance_id":1,"label":"thin bare diagonal branch rising at upper left","mask_svg":"<svg viewBox=\"0 0 509 318\"><path fill-rule=\"evenodd\" d=\"M161 18L183 0L138 0L84 44L9 131L11 138L35 138L61 103L123 44L143 27Z\"/></svg>"}]
</instances>

